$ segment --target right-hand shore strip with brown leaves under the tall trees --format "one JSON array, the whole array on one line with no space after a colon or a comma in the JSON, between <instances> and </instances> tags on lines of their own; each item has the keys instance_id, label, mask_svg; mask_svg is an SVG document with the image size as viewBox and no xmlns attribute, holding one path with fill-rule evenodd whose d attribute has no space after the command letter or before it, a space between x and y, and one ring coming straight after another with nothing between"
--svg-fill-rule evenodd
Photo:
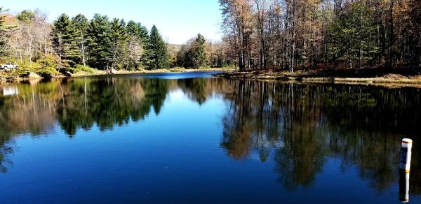
<instances>
[{"instance_id":1,"label":"right-hand shore strip with brown leaves under the tall trees","mask_svg":"<svg viewBox=\"0 0 421 204\"><path fill-rule=\"evenodd\" d=\"M394 70L385 68L366 68L360 70L312 70L295 71L293 73L277 70L228 71L216 75L222 78L230 79L421 88L421 73L412 70Z\"/></svg>"}]
</instances>

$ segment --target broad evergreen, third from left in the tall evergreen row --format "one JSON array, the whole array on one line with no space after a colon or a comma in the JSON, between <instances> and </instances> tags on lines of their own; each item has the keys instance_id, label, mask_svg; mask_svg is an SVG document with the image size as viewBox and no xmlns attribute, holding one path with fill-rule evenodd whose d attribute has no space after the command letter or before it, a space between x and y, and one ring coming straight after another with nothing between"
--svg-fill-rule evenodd
<instances>
[{"instance_id":1,"label":"broad evergreen, third from left in the tall evergreen row","mask_svg":"<svg viewBox=\"0 0 421 204\"><path fill-rule=\"evenodd\" d=\"M89 64L108 69L112 64L111 24L106 15L95 14L88 29Z\"/></svg>"}]
</instances>

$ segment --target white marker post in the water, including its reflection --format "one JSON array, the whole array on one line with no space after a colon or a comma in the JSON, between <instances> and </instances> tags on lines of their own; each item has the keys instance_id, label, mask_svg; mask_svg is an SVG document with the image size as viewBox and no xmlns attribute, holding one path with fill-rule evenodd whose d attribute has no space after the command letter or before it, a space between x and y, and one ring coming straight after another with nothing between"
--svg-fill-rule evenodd
<instances>
[{"instance_id":1,"label":"white marker post in the water, including its reflection","mask_svg":"<svg viewBox=\"0 0 421 204\"><path fill-rule=\"evenodd\" d=\"M401 163L399 165L399 201L409 202L409 172L412 140L405 138L401 145Z\"/></svg>"}]
</instances>

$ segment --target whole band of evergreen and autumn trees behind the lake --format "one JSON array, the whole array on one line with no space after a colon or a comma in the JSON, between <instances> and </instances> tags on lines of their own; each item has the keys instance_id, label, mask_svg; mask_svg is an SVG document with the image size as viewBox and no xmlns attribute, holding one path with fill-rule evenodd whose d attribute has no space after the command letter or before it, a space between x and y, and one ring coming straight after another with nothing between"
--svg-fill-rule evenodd
<instances>
[{"instance_id":1,"label":"whole band of evergreen and autumn trees behind the lake","mask_svg":"<svg viewBox=\"0 0 421 204\"><path fill-rule=\"evenodd\" d=\"M294 72L421 68L418 0L219 0L222 39L185 45L159 29L95 14L0 10L0 62L41 75L65 71L232 66ZM25 72L26 71L26 72Z\"/></svg>"}]
</instances>

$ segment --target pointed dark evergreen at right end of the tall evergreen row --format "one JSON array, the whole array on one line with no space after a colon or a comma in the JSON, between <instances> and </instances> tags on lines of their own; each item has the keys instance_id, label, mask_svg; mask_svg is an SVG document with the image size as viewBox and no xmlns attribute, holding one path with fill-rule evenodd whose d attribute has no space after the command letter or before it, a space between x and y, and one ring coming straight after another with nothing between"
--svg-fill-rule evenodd
<instances>
[{"instance_id":1,"label":"pointed dark evergreen at right end of the tall evergreen row","mask_svg":"<svg viewBox=\"0 0 421 204\"><path fill-rule=\"evenodd\" d=\"M151 29L149 43L147 44L147 52L145 53L147 68L168 68L168 52L166 43L159 34L155 25Z\"/></svg>"}]
</instances>

